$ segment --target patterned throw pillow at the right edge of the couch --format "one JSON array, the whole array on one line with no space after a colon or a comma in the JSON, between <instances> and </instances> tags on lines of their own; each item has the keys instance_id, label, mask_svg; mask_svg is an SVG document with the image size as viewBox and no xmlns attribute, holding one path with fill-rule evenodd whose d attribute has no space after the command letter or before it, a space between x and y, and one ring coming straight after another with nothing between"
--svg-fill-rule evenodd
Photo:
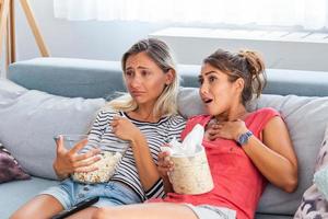
<instances>
[{"instance_id":1,"label":"patterned throw pillow at the right edge of the couch","mask_svg":"<svg viewBox=\"0 0 328 219\"><path fill-rule=\"evenodd\" d=\"M327 168L328 126L315 164L315 183L303 194L302 203L294 216L295 219L328 218L328 201L327 196L325 197L328 187L323 186L328 183L328 177L325 177Z\"/></svg>"}]
</instances>

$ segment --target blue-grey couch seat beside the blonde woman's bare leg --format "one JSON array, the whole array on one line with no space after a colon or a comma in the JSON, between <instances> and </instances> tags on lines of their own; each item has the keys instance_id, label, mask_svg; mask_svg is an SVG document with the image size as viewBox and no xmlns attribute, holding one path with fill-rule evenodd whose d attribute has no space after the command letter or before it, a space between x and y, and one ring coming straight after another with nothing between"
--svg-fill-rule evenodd
<instances>
[{"instance_id":1,"label":"blue-grey couch seat beside the blonde woman's bare leg","mask_svg":"<svg viewBox=\"0 0 328 219\"><path fill-rule=\"evenodd\" d=\"M39 192L56 185L58 181L32 177L28 181L15 181L0 184L0 216L9 218L20 206Z\"/></svg>"}]
</instances>

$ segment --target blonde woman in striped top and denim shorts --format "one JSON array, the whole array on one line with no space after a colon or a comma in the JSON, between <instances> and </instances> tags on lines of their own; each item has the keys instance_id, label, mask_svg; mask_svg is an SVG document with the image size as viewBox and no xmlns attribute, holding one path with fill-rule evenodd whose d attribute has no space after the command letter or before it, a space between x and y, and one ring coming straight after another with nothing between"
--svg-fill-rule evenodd
<instances>
[{"instance_id":1,"label":"blonde woman in striped top and denim shorts","mask_svg":"<svg viewBox=\"0 0 328 219\"><path fill-rule=\"evenodd\" d=\"M94 170L91 164L98 160L99 149L90 148L89 152L78 154L85 142L68 151L61 139L54 169L63 181L30 200L11 218L50 218L85 198L99 196L94 206L71 216L91 218L96 207L137 204L163 196L156 166L160 147L179 138L185 127L185 119L177 115L179 80L174 61L164 42L149 38L134 44L122 56L121 66L128 93L98 113L89 136L101 142L103 151L110 147L106 140L112 138L129 141L109 182L85 185L71 180L71 173Z\"/></svg>"}]
</instances>

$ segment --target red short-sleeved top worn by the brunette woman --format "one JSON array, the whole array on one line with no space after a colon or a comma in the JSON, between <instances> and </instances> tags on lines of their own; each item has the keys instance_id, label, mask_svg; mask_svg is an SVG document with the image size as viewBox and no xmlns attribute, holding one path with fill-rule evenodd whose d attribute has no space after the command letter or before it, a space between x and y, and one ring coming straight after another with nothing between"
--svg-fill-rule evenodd
<instances>
[{"instance_id":1,"label":"red short-sleeved top worn by the brunette woman","mask_svg":"<svg viewBox=\"0 0 328 219\"><path fill-rule=\"evenodd\" d=\"M276 110L261 108L250 113L246 117L245 124L258 139L262 140L261 131L268 120L274 116L280 116ZM181 138L184 139L196 124L206 126L210 119L211 117L208 115L191 117L181 134ZM203 140L202 143L206 148L214 188L201 195L168 193L164 201L227 207L236 210L238 219L254 218L267 180L234 140Z\"/></svg>"}]
</instances>

